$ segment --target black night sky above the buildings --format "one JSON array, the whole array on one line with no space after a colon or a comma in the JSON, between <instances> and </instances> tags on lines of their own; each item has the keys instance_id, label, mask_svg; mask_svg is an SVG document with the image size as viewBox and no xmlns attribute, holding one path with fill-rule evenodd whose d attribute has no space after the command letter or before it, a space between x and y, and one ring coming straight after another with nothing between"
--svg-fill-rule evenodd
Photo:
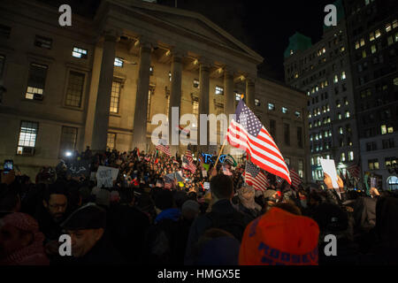
<instances>
[{"instance_id":1,"label":"black night sky above the buildings","mask_svg":"<svg viewBox=\"0 0 398 283\"><path fill-rule=\"evenodd\" d=\"M72 11L93 16L100 0L40 0L59 6L70 4ZM133 1L133 0L132 0ZM176 0L157 0L174 6ZM289 36L296 31L318 42L323 33L326 4L333 0L177 0L177 7L202 13L229 34L264 57L258 73L284 81L283 52Z\"/></svg>"}]
</instances>

